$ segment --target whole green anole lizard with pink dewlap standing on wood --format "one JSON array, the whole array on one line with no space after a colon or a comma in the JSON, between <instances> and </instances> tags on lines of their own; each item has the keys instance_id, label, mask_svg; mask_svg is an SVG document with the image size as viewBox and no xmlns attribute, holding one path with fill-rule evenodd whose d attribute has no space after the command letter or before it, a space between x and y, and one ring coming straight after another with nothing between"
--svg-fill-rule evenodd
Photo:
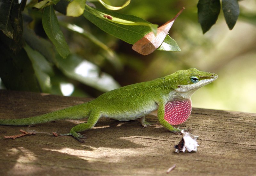
<instances>
[{"instance_id":1,"label":"whole green anole lizard with pink dewlap standing on wood","mask_svg":"<svg viewBox=\"0 0 256 176\"><path fill-rule=\"evenodd\" d=\"M100 95L87 103L54 111L48 114L21 118L0 119L0 125L32 125L61 119L88 118L67 134L82 142L79 132L91 129L100 117L109 117L120 121L140 118L143 127L149 123L145 116L157 110L157 117L165 128L171 132L180 132L172 125L181 124L191 113L191 96L199 88L217 79L218 75L199 71L196 68L179 70L171 75L152 81L127 85ZM154 114L155 115L155 114Z\"/></svg>"}]
</instances>

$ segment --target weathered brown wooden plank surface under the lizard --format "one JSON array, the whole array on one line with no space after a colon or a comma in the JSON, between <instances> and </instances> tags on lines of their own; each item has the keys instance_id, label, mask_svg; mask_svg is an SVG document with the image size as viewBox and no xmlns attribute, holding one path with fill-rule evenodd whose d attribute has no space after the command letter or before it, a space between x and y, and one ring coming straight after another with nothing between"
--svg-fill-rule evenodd
<instances>
[{"instance_id":1,"label":"weathered brown wooden plank surface under the lizard","mask_svg":"<svg viewBox=\"0 0 256 176\"><path fill-rule=\"evenodd\" d=\"M0 118L24 118L88 101L86 98L0 90ZM127 105L129 106L129 105ZM157 118L149 116L149 122ZM85 119L86 120L86 119ZM82 120L30 127L0 126L0 175L256 175L256 114L193 108L181 128L198 135L198 152L174 153L181 136L161 125L101 118L85 143L69 132ZM12 139L19 129L36 135ZM50 133L50 134L48 134Z\"/></svg>"}]
</instances>

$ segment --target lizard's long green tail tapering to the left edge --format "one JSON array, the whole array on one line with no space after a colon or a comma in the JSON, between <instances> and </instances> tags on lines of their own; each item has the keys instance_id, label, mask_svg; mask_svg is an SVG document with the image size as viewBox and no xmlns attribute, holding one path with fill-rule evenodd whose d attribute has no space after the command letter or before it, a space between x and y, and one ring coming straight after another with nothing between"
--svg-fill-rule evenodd
<instances>
[{"instance_id":1,"label":"lizard's long green tail tapering to the left edge","mask_svg":"<svg viewBox=\"0 0 256 176\"><path fill-rule=\"evenodd\" d=\"M40 116L21 118L21 119L0 119L0 125L24 126L31 124L39 124L45 122L52 122L62 119L81 119L88 117L90 108L88 103L79 104L69 108L50 112Z\"/></svg>"}]
</instances>

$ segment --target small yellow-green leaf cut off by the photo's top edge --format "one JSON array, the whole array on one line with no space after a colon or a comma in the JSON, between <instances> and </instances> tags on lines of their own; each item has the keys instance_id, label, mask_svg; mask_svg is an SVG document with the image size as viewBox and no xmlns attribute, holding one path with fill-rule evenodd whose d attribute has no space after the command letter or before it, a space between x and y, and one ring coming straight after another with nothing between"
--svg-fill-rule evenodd
<instances>
[{"instance_id":1,"label":"small yellow-green leaf cut off by the photo's top edge","mask_svg":"<svg viewBox=\"0 0 256 176\"><path fill-rule=\"evenodd\" d=\"M86 0L73 0L68 4L67 16L79 17L84 13Z\"/></svg>"}]
</instances>

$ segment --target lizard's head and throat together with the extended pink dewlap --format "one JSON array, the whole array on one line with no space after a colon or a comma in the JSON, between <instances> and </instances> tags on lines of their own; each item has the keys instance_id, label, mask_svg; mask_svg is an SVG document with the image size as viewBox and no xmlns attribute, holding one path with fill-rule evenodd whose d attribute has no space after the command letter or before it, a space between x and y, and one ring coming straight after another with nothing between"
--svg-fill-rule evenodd
<instances>
[{"instance_id":1,"label":"lizard's head and throat together with the extended pink dewlap","mask_svg":"<svg viewBox=\"0 0 256 176\"><path fill-rule=\"evenodd\" d=\"M164 80L169 81L172 90L164 105L164 120L169 124L181 124L190 116L192 105L191 96L199 88L217 79L218 75L199 71L196 68L179 70Z\"/></svg>"}]
</instances>

